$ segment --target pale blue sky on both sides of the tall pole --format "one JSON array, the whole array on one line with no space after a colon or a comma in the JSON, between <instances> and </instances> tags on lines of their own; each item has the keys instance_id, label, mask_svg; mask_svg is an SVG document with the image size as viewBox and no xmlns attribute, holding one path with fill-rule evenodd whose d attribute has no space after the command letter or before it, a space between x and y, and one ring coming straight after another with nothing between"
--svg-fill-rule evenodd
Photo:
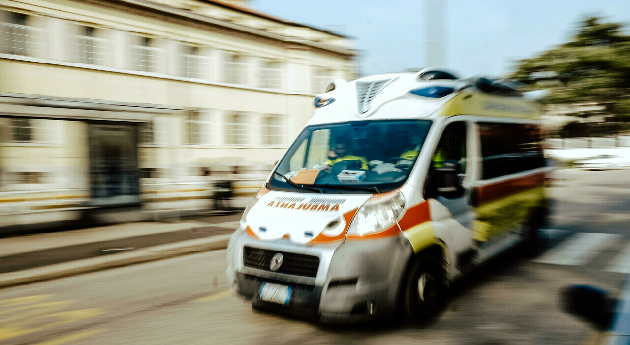
<instances>
[{"instance_id":1,"label":"pale blue sky on both sides of the tall pole","mask_svg":"<svg viewBox=\"0 0 630 345\"><path fill-rule=\"evenodd\" d=\"M630 0L445 1L444 65L462 77L507 76L517 60L569 40L585 16L630 24ZM422 0L249 0L249 5L353 37L362 75L427 67Z\"/></svg>"}]
</instances>

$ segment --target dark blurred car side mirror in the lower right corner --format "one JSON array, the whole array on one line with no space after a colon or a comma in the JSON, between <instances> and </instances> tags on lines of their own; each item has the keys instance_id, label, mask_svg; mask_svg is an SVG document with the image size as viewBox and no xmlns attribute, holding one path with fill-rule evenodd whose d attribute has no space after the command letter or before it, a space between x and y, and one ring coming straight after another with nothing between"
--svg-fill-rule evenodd
<instances>
[{"instance_id":1,"label":"dark blurred car side mirror in the lower right corner","mask_svg":"<svg viewBox=\"0 0 630 345\"><path fill-rule=\"evenodd\" d=\"M573 285L562 292L565 312L576 315L605 331L612 323L615 301L604 290L588 285Z\"/></svg>"}]
</instances>

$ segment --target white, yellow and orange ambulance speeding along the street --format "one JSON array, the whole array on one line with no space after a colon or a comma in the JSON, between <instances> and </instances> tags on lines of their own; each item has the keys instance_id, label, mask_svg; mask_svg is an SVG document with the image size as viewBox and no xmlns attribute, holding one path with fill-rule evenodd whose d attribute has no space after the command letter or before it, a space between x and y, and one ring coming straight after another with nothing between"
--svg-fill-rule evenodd
<instances>
[{"instance_id":1,"label":"white, yellow and orange ambulance speeding along the street","mask_svg":"<svg viewBox=\"0 0 630 345\"><path fill-rule=\"evenodd\" d=\"M442 69L336 80L227 247L256 308L427 320L450 283L546 219L540 95Z\"/></svg>"}]
</instances>

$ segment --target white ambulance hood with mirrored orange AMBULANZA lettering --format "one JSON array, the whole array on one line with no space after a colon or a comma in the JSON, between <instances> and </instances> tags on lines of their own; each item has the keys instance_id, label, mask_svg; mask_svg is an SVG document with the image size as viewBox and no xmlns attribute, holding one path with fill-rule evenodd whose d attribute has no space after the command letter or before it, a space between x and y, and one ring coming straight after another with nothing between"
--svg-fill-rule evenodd
<instances>
[{"instance_id":1,"label":"white ambulance hood with mirrored orange AMBULANZA lettering","mask_svg":"<svg viewBox=\"0 0 630 345\"><path fill-rule=\"evenodd\" d=\"M270 191L249 210L246 231L262 240L338 242L345 239L352 217L370 196Z\"/></svg>"}]
</instances>

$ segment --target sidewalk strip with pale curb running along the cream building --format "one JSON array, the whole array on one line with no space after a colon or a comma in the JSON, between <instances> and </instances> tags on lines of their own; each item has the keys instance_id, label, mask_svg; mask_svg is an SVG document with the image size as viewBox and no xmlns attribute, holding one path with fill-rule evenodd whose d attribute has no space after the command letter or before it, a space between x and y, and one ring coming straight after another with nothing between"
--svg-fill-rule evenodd
<instances>
[{"instance_id":1,"label":"sidewalk strip with pale curb running along the cream building","mask_svg":"<svg viewBox=\"0 0 630 345\"><path fill-rule=\"evenodd\" d=\"M224 249L240 213L0 238L0 288Z\"/></svg>"}]
</instances>

